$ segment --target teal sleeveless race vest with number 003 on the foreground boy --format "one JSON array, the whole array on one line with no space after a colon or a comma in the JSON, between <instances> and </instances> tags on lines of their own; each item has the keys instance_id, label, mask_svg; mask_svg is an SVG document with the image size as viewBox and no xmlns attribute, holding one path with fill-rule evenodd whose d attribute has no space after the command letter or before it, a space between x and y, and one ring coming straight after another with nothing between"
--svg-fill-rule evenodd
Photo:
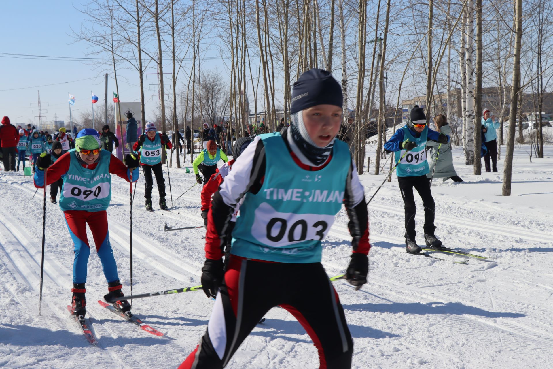
<instances>
[{"instance_id":1,"label":"teal sleeveless race vest with number 003 on the foreground boy","mask_svg":"<svg viewBox=\"0 0 553 369\"><path fill-rule=\"evenodd\" d=\"M342 207L351 165L348 146L336 140L330 163L311 171L294 162L280 133L260 137L265 179L257 194L244 196L231 253L280 263L320 262L321 241Z\"/></svg>"}]
</instances>

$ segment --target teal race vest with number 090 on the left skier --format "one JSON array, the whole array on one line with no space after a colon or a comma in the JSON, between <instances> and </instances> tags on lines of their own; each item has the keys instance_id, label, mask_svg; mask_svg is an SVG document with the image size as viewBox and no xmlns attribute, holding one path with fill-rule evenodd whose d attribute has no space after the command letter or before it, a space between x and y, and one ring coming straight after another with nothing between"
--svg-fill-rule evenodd
<instances>
[{"instance_id":1,"label":"teal race vest with number 090 on the left skier","mask_svg":"<svg viewBox=\"0 0 553 369\"><path fill-rule=\"evenodd\" d=\"M69 150L69 155L71 160L61 190L60 209L63 211L106 210L111 200L111 174L109 174L111 153L101 150L95 169L83 168L77 159L75 149Z\"/></svg>"}]
</instances>

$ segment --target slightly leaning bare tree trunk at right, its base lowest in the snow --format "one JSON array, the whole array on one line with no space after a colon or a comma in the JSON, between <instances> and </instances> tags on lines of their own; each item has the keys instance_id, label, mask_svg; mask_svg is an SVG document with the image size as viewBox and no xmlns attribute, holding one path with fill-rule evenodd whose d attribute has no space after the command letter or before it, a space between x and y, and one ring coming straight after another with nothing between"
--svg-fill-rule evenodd
<instances>
[{"instance_id":1,"label":"slightly leaning bare tree trunk at right, its base lowest in the snow","mask_svg":"<svg viewBox=\"0 0 553 369\"><path fill-rule=\"evenodd\" d=\"M515 146L515 124L517 121L517 101L520 89L520 44L522 39L522 0L515 0L515 55L513 58L513 83L511 87L511 108L509 112L509 134L507 136L507 153L503 165L503 196L511 195L511 176L513 170L513 152Z\"/></svg>"}]
</instances>

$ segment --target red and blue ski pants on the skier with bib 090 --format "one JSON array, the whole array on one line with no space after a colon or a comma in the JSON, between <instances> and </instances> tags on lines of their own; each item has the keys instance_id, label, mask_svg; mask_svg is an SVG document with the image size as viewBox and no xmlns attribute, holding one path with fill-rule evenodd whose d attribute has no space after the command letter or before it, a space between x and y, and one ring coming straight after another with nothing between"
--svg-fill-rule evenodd
<instances>
[{"instance_id":1,"label":"red and blue ski pants on the skier with bib 090","mask_svg":"<svg viewBox=\"0 0 553 369\"><path fill-rule=\"evenodd\" d=\"M90 245L86 235L86 225L92 232L96 252L102 263L102 269L107 282L114 282L119 279L117 276L117 264L113 257L113 250L109 242L109 231L107 226L107 212L104 211L64 211L65 222L69 234L74 243L75 259L73 261L73 283L86 283L88 256L90 256Z\"/></svg>"}]
</instances>

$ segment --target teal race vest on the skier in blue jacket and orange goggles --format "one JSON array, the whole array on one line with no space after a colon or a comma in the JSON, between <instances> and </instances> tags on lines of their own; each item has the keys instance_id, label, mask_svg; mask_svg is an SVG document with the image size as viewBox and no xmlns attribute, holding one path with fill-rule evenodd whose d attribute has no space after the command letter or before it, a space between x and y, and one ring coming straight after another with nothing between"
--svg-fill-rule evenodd
<instances>
[{"instance_id":1,"label":"teal race vest on the skier in blue jacket and orange goggles","mask_svg":"<svg viewBox=\"0 0 553 369\"><path fill-rule=\"evenodd\" d=\"M406 154L406 150L399 150L394 152L395 163L398 164L397 175L398 177L412 177L418 175L425 175L429 173L428 162L426 161L426 136L428 134L428 126L426 126L420 133L420 137L416 138L411 134L409 128L401 127L404 132L404 141L415 142L417 145L414 149L409 150ZM405 154L405 156L403 156ZM401 159L403 157L403 159Z\"/></svg>"}]
</instances>

